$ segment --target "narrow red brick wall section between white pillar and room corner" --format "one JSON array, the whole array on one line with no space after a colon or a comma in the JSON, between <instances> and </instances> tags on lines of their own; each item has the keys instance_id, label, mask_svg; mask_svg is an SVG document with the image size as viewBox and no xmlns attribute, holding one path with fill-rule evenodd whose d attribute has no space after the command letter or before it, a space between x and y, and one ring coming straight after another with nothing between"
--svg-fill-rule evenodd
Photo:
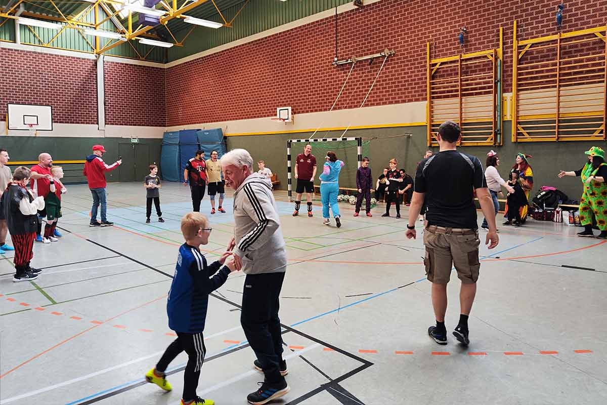
<instances>
[{"instance_id":1,"label":"narrow red brick wall section between white pillar and room corner","mask_svg":"<svg viewBox=\"0 0 607 405\"><path fill-rule=\"evenodd\" d=\"M106 124L164 126L164 70L106 62Z\"/></svg>"}]
</instances>

